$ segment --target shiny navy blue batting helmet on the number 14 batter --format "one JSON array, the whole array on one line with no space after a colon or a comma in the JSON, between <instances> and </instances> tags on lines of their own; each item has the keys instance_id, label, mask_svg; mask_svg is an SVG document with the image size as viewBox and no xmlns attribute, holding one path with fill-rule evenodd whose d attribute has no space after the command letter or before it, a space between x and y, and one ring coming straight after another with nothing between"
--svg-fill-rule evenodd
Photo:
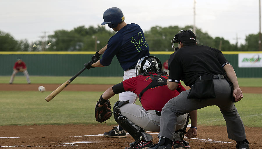
<instances>
[{"instance_id":1,"label":"shiny navy blue batting helmet on the number 14 batter","mask_svg":"<svg viewBox=\"0 0 262 149\"><path fill-rule=\"evenodd\" d=\"M115 28L118 23L125 20L122 11L117 7L107 9L103 14L104 22L101 25L108 24L108 27Z\"/></svg>"}]
</instances>

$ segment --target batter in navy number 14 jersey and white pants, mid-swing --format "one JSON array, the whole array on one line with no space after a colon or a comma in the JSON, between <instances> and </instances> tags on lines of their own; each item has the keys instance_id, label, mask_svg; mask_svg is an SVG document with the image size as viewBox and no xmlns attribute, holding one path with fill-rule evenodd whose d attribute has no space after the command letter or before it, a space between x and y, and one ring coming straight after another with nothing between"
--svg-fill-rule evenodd
<instances>
[{"instance_id":1,"label":"batter in navy number 14 jersey and white pants, mid-swing","mask_svg":"<svg viewBox=\"0 0 262 149\"><path fill-rule=\"evenodd\" d=\"M92 61L85 64L86 68L108 66L111 64L114 56L116 56L124 70L123 80L135 77L137 61L144 56L149 56L149 48L144 37L144 32L137 24L125 23L125 17L119 8L113 7L107 9L103 14L103 18L104 22L102 22L102 25L108 24L108 27L117 33L109 39L104 48L95 53ZM103 54L102 59L99 60L101 54ZM136 99L137 95L133 92L119 94L119 100L121 101L129 100L130 103L135 103ZM114 128L106 132L105 136L125 137L125 132L119 133L122 130L120 127Z\"/></svg>"}]
</instances>

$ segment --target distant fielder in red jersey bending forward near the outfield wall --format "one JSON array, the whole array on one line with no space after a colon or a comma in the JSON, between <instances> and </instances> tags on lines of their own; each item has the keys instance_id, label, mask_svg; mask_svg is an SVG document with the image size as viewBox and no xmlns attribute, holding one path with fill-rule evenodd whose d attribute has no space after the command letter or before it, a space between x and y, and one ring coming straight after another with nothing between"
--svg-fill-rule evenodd
<instances>
[{"instance_id":1,"label":"distant fielder in red jersey bending forward near the outfield wall","mask_svg":"<svg viewBox=\"0 0 262 149\"><path fill-rule=\"evenodd\" d=\"M17 58L17 61L15 62L15 65L13 67L13 73L11 75L11 79L10 79L10 82L9 84L13 84L13 81L14 81L14 78L15 78L15 75L18 73L18 72L23 72L24 73L24 76L26 77L26 81L28 84L31 84L31 81L29 79L29 74L27 72L27 67L26 67L26 64L22 61L21 58Z\"/></svg>"}]
</instances>

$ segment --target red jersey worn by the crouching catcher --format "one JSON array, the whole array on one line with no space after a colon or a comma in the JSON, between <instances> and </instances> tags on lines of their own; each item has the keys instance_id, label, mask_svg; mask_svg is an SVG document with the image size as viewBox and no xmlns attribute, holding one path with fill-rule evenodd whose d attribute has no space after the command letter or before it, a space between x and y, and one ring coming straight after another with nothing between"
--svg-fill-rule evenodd
<instances>
[{"instance_id":1,"label":"red jersey worn by the crouching catcher","mask_svg":"<svg viewBox=\"0 0 262 149\"><path fill-rule=\"evenodd\" d=\"M155 73L152 73L153 75L157 75ZM167 76L161 75L162 77L167 79ZM130 79L127 79L123 81L123 86L125 91L132 91L137 96L141 91L143 91L146 86L148 86L149 83L152 82L152 79L149 77L152 76L143 76L139 75L137 77L132 77ZM171 91L168 89L167 85L164 86L158 86L153 89L148 89L145 91L143 96L141 97L141 105L145 110L157 110L162 111L162 108L164 105L171 99L179 95L182 91L185 91L186 89L180 84L178 84L177 90Z\"/></svg>"}]
</instances>

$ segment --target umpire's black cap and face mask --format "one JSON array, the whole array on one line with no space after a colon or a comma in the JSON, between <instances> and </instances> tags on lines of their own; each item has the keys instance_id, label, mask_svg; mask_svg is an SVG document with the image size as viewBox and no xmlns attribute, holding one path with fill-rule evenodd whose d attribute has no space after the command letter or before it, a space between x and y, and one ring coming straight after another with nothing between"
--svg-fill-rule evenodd
<instances>
[{"instance_id":1,"label":"umpire's black cap and face mask","mask_svg":"<svg viewBox=\"0 0 262 149\"><path fill-rule=\"evenodd\" d=\"M196 41L196 35L191 30L180 30L171 40L172 48L174 51L178 50L178 46L174 43L179 43L180 41Z\"/></svg>"}]
</instances>

